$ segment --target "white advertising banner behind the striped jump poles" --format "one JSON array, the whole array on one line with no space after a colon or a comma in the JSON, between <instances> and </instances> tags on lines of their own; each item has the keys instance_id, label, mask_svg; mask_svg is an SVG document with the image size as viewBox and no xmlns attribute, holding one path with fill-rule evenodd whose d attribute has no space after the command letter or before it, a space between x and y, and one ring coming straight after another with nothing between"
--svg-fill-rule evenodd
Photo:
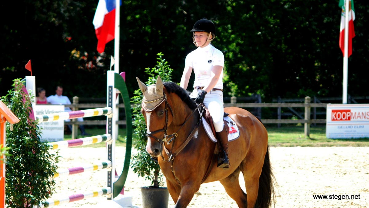
<instances>
[{"instance_id":1,"label":"white advertising banner behind the striped jump poles","mask_svg":"<svg viewBox=\"0 0 369 208\"><path fill-rule=\"evenodd\" d=\"M64 112L64 105L35 105L35 115ZM41 128L41 141L53 142L64 139L64 120L46 121L38 124Z\"/></svg>"}]
</instances>

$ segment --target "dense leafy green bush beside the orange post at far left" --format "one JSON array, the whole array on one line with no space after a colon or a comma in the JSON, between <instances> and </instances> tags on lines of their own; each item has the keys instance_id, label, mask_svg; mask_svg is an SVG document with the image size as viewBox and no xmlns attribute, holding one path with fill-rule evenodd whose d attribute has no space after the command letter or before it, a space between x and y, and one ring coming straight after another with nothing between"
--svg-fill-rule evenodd
<instances>
[{"instance_id":1,"label":"dense leafy green bush beside the orange post at far left","mask_svg":"<svg viewBox=\"0 0 369 208\"><path fill-rule=\"evenodd\" d=\"M8 208L32 207L45 201L54 190L53 178L59 156L49 152L42 143L41 130L31 120L31 98L23 90L23 83L15 79L14 90L1 98L20 120L7 123L6 143L10 157L6 158L6 204Z\"/></svg>"}]
</instances>

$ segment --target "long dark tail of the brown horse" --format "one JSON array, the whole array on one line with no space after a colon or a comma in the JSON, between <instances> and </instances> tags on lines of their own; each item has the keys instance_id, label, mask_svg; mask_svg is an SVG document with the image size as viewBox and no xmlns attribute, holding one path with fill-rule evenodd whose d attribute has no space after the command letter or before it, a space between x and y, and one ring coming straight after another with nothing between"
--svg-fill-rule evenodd
<instances>
[{"instance_id":1,"label":"long dark tail of the brown horse","mask_svg":"<svg viewBox=\"0 0 369 208\"><path fill-rule=\"evenodd\" d=\"M269 160L269 146L266 149L264 158L264 164L259 178L259 192L256 199L257 208L269 208L271 202L275 205L275 192L274 192L275 178L272 173L272 167Z\"/></svg>"}]
</instances>

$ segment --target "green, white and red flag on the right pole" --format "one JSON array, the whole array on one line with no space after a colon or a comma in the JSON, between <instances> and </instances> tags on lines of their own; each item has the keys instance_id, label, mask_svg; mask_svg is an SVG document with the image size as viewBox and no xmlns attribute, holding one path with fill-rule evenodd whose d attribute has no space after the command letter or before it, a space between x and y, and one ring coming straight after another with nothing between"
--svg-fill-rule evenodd
<instances>
[{"instance_id":1,"label":"green, white and red flag on the right pole","mask_svg":"<svg viewBox=\"0 0 369 208\"><path fill-rule=\"evenodd\" d=\"M355 37L354 20L355 20L355 9L354 0L346 0L349 2L348 9L348 57L352 54L352 38ZM341 26L339 27L339 48L341 48L342 54L345 55L345 0L339 0L338 6L342 8L341 13Z\"/></svg>"}]
</instances>

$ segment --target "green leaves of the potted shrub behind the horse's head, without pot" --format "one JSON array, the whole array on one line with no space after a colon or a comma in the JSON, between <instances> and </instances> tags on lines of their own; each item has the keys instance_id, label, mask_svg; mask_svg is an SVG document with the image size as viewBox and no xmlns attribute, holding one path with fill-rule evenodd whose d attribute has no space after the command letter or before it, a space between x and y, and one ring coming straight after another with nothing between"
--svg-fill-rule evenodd
<instances>
[{"instance_id":1,"label":"green leaves of the potted shrub behind the horse's head, without pot","mask_svg":"<svg viewBox=\"0 0 369 208\"><path fill-rule=\"evenodd\" d=\"M163 82L170 81L172 71L168 65L168 62L163 59L163 54L157 54L156 66L153 68L146 68L145 72L149 75L148 81L144 82L139 76L139 79L146 83L146 85L152 85L156 83L156 78L160 75ZM146 152L147 137L146 134L146 123L145 118L141 113L141 102L143 99L142 92L140 89L135 90L135 96L132 97L132 103L135 104L133 110L133 125L135 140L133 146L137 150L134 153L131 160L131 167L133 172L139 174L141 177L145 177L147 180L152 181L153 187L160 187L163 185L163 175L160 171L159 164L150 159L150 155ZM161 159L160 157L158 158Z\"/></svg>"}]
</instances>

